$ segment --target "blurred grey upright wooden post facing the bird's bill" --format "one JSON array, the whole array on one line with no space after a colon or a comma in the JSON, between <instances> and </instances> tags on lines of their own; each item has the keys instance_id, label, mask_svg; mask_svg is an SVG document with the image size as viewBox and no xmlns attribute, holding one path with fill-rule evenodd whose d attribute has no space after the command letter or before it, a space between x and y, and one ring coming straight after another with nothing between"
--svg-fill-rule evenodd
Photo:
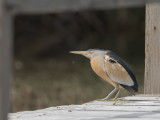
<instances>
[{"instance_id":1,"label":"blurred grey upright wooden post facing the bird's bill","mask_svg":"<svg viewBox=\"0 0 160 120\"><path fill-rule=\"evenodd\" d=\"M7 120L12 61L12 20L0 0L0 120Z\"/></svg>"}]
</instances>

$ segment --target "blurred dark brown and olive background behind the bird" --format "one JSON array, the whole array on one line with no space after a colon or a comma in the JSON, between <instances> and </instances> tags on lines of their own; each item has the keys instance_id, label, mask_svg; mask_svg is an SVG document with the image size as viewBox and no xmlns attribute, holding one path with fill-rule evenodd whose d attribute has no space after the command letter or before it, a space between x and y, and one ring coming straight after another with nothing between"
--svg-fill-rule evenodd
<instances>
[{"instance_id":1,"label":"blurred dark brown and olive background behind the bird","mask_svg":"<svg viewBox=\"0 0 160 120\"><path fill-rule=\"evenodd\" d=\"M113 89L71 50L112 50L133 69L143 93L145 8L18 15L11 111L82 104ZM130 95L122 90L120 97Z\"/></svg>"}]
</instances>

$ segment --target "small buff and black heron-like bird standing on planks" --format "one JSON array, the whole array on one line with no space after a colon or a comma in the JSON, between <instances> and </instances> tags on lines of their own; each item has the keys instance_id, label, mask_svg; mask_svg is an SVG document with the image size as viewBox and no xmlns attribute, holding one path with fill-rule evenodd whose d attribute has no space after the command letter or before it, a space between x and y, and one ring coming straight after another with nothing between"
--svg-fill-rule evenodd
<instances>
[{"instance_id":1,"label":"small buff and black heron-like bird standing on planks","mask_svg":"<svg viewBox=\"0 0 160 120\"><path fill-rule=\"evenodd\" d=\"M115 93L114 100L118 98L120 90L126 89L132 95L138 92L138 82L129 65L115 52L101 49L88 49L86 51L70 51L90 59L93 71L114 86L114 89L103 100L110 99Z\"/></svg>"}]
</instances>

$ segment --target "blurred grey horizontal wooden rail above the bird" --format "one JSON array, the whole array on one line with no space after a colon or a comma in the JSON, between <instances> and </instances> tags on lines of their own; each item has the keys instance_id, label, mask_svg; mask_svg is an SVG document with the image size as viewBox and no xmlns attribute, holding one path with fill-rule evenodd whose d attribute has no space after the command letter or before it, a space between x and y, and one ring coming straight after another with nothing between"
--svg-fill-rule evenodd
<instances>
[{"instance_id":1,"label":"blurred grey horizontal wooden rail above the bird","mask_svg":"<svg viewBox=\"0 0 160 120\"><path fill-rule=\"evenodd\" d=\"M157 2L152 0L148 2ZM160 1L159 1L160 2ZM145 0L8 0L19 14L44 14L145 6Z\"/></svg>"}]
</instances>

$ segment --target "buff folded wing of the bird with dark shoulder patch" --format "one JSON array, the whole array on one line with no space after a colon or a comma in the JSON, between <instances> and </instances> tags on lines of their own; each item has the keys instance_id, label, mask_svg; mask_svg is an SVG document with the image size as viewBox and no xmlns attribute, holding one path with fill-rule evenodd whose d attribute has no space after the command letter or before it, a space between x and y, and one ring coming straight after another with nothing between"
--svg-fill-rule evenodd
<instances>
[{"instance_id":1,"label":"buff folded wing of the bird with dark shoulder patch","mask_svg":"<svg viewBox=\"0 0 160 120\"><path fill-rule=\"evenodd\" d=\"M119 84L133 86L134 82L131 79L128 72L119 64L116 60L109 57L108 55L104 56L104 69L109 78Z\"/></svg>"}]
</instances>

